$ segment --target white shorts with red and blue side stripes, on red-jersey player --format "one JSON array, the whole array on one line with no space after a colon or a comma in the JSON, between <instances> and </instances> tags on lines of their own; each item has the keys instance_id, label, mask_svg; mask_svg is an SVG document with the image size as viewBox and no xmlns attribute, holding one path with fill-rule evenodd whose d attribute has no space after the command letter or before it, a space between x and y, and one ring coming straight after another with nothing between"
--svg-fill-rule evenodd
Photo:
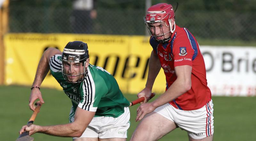
<instances>
[{"instance_id":1,"label":"white shorts with red and blue side stripes, on red-jersey player","mask_svg":"<svg viewBox=\"0 0 256 141\"><path fill-rule=\"evenodd\" d=\"M180 110L166 103L155 109L156 113L176 123L194 139L202 139L213 134L213 103L207 102L204 107L196 110Z\"/></svg>"}]
</instances>

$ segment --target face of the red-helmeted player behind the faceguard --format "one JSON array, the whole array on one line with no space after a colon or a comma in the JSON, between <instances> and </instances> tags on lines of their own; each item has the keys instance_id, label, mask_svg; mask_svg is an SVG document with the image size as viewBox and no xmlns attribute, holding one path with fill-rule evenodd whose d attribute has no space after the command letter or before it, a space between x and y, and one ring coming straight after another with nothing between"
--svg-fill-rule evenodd
<instances>
[{"instance_id":1,"label":"face of the red-helmeted player behind the faceguard","mask_svg":"<svg viewBox=\"0 0 256 141\"><path fill-rule=\"evenodd\" d=\"M151 23L149 24L149 28L157 40L163 40L171 36L170 27L166 26L164 22Z\"/></svg>"}]
</instances>

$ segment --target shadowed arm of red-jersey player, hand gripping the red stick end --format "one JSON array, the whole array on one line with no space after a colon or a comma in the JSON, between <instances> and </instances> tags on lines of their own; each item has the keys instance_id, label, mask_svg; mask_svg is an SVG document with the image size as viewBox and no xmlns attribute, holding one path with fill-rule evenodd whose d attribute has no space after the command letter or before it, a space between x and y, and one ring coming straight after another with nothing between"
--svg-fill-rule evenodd
<instances>
[{"instance_id":1,"label":"shadowed arm of red-jersey player, hand gripping the red stick end","mask_svg":"<svg viewBox=\"0 0 256 141\"><path fill-rule=\"evenodd\" d=\"M161 69L161 64L159 58L154 51L151 52L150 59L149 59L149 69L148 69L148 78L145 88L137 95L140 97L145 97L143 103L148 102L148 98L151 95L153 84L156 80L156 76L158 75Z\"/></svg>"}]
</instances>

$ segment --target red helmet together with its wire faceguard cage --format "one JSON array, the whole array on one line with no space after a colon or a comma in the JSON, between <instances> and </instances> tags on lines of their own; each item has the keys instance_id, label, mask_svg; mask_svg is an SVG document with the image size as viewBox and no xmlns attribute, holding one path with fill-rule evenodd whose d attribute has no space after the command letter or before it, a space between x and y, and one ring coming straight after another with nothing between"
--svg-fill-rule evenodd
<instances>
[{"instance_id":1,"label":"red helmet together with its wire faceguard cage","mask_svg":"<svg viewBox=\"0 0 256 141\"><path fill-rule=\"evenodd\" d=\"M148 8L146 17L144 17L145 24L147 26L148 32L152 37L160 37L169 34L170 32L173 33L175 31L175 21L174 21L174 28L172 30L171 20L174 19L174 11L171 4L156 4ZM161 34L156 35L156 29L154 24L160 24ZM168 27L169 30L164 33L163 25ZM152 30L154 32L152 32ZM158 29L157 29L158 30ZM169 37L164 37L164 39L156 39L159 43L166 43L171 39L171 34Z\"/></svg>"}]
</instances>

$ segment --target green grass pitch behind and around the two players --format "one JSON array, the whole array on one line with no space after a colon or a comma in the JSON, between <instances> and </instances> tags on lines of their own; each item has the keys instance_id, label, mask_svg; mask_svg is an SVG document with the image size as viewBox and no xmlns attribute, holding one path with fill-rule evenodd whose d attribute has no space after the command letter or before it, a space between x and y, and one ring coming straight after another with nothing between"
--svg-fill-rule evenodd
<instances>
[{"instance_id":1,"label":"green grass pitch behind and around the two players","mask_svg":"<svg viewBox=\"0 0 256 141\"><path fill-rule=\"evenodd\" d=\"M69 98L55 89L42 88L41 92L45 104L37 115L35 124L56 125L68 123L68 115L71 106ZM18 132L32 115L28 108L30 89L22 86L0 86L0 116L2 127L1 140L12 141L19 136ZM158 97L159 95L156 95ZM136 95L125 94L132 101ZM256 97L212 97L214 103L214 140L216 141L242 141L256 140ZM138 123L135 122L136 109L132 106L131 127L128 130L128 139L132 136ZM71 141L72 138L53 137L36 133L32 135L36 141ZM184 141L188 140L185 131L176 129L164 136L160 141Z\"/></svg>"}]
</instances>

